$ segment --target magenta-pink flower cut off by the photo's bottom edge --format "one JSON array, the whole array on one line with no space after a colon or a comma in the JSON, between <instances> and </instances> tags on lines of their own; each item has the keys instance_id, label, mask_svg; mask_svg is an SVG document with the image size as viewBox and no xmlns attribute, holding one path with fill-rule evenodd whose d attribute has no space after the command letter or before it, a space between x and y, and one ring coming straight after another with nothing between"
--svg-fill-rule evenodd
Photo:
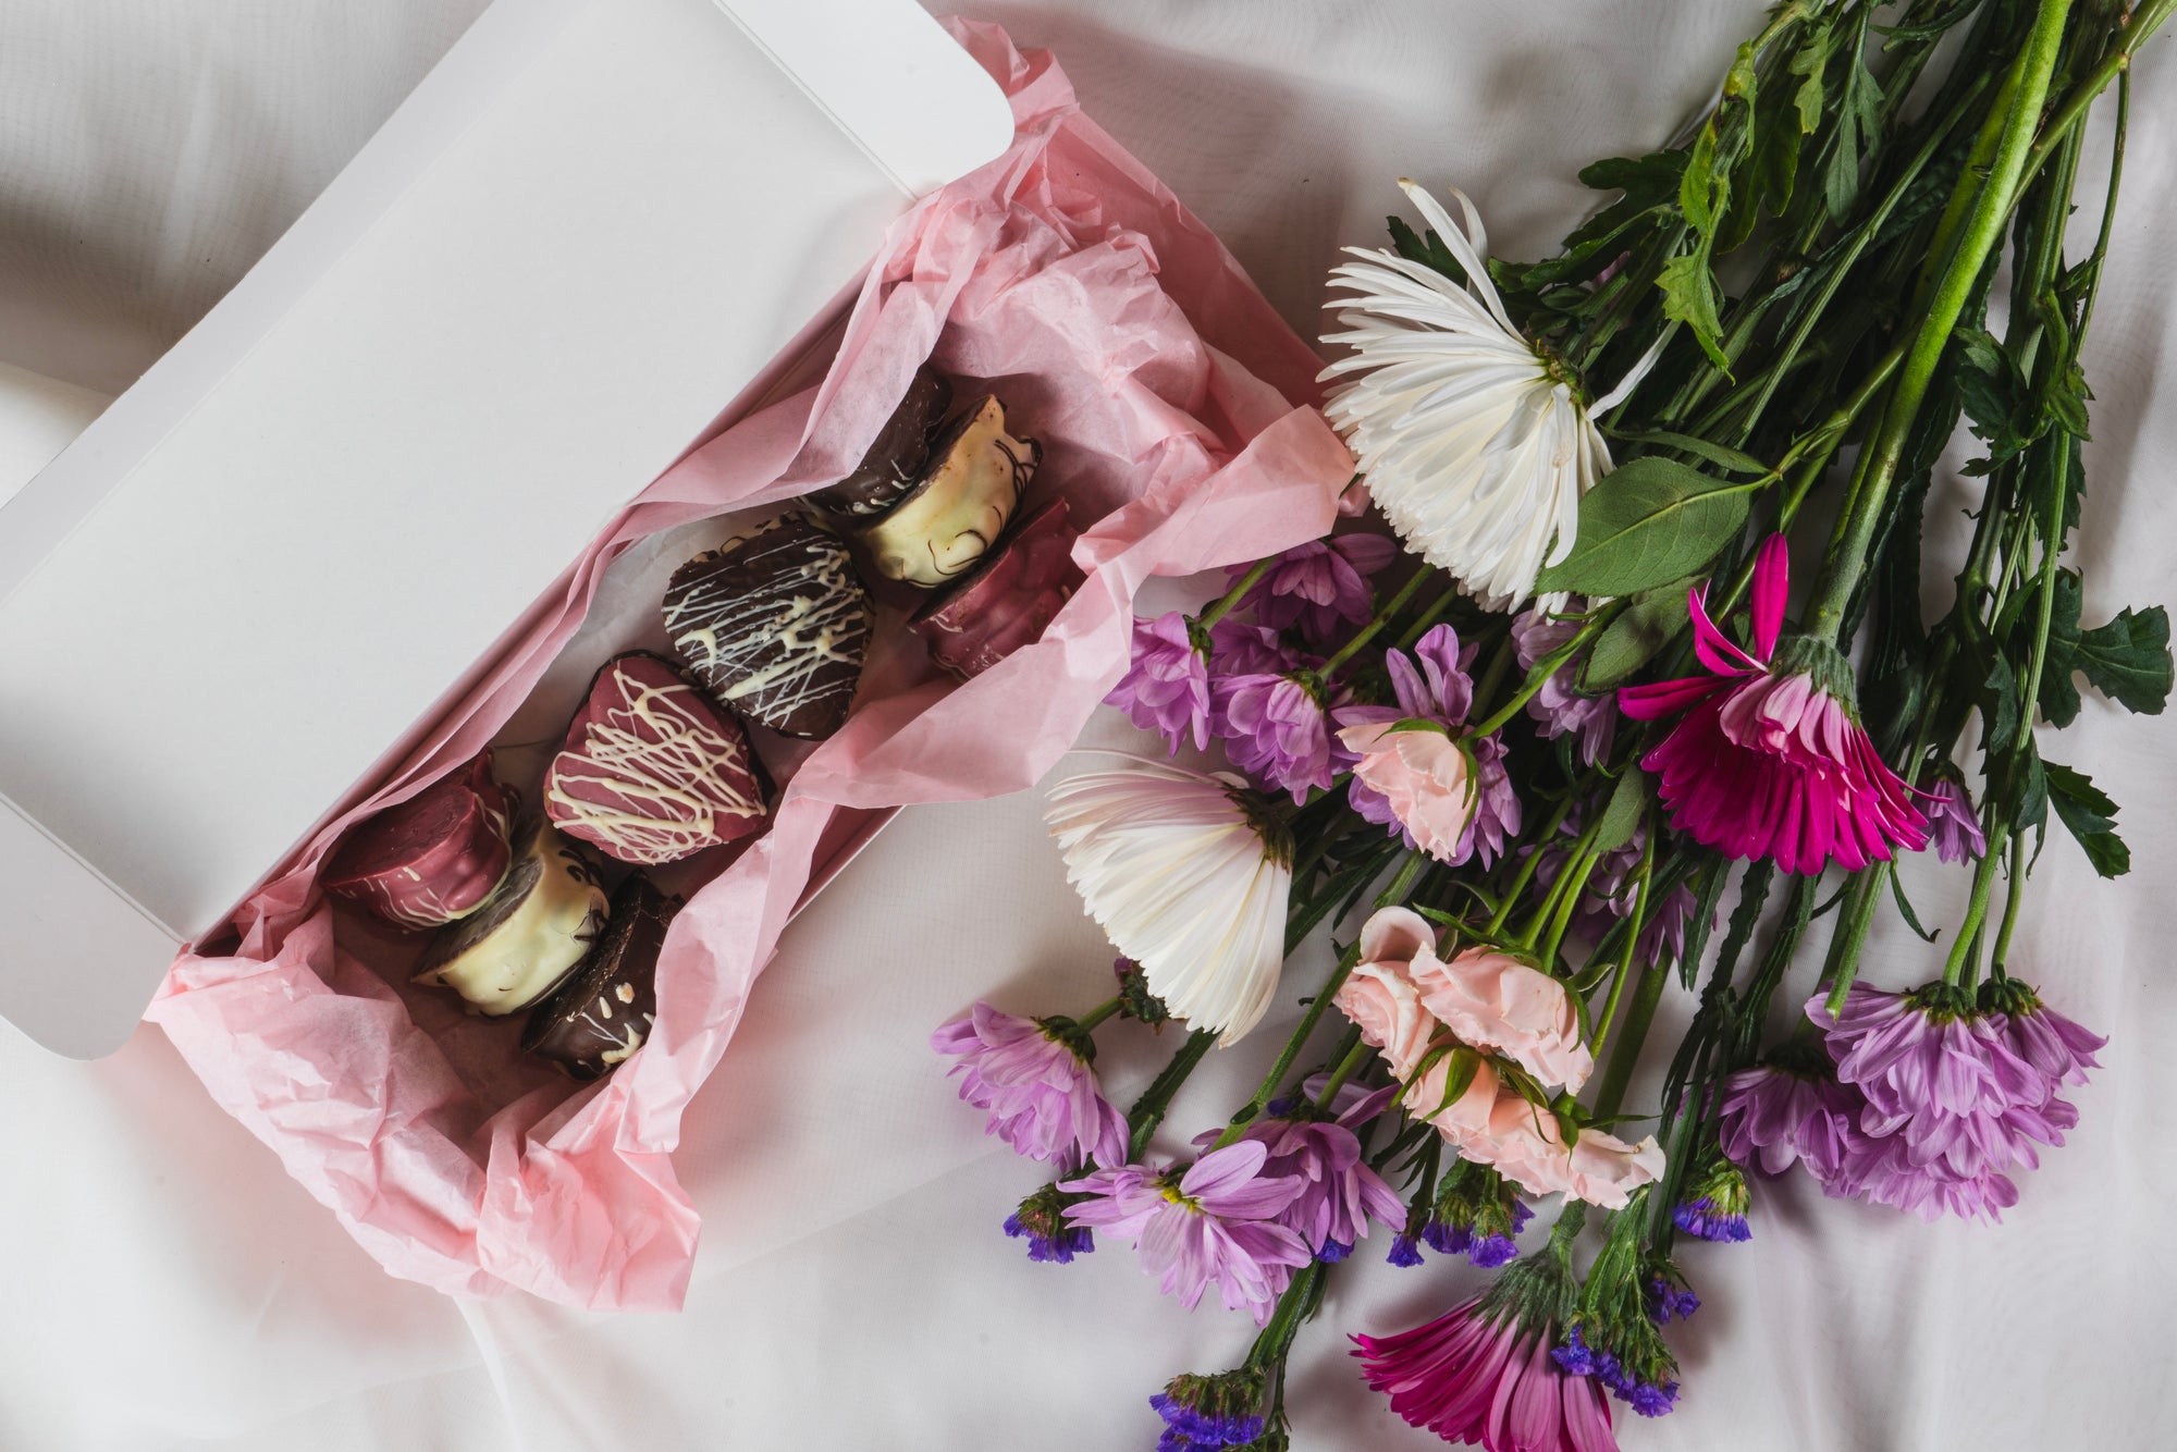
<instances>
[{"instance_id":1,"label":"magenta-pink flower cut off by the photo's bottom edge","mask_svg":"<svg viewBox=\"0 0 2177 1452\"><path fill-rule=\"evenodd\" d=\"M1618 1452L1602 1387L1550 1358L1570 1287L1554 1256L1393 1337L1354 1337L1367 1385L1443 1441L1487 1452ZM1539 1273L1537 1273L1539 1271Z\"/></svg>"}]
</instances>

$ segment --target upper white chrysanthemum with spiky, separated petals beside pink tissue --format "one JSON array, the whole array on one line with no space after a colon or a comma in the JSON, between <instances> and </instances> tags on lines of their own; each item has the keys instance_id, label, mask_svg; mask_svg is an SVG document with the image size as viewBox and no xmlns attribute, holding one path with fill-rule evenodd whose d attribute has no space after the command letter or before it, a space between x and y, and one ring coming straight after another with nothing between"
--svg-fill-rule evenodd
<instances>
[{"instance_id":1,"label":"upper white chrysanthemum with spiky, separated petals beside pink tissue","mask_svg":"<svg viewBox=\"0 0 2177 1452\"><path fill-rule=\"evenodd\" d=\"M1572 553L1581 496L1611 470L1589 420L1639 383L1655 355L1591 409L1572 377L1520 335L1485 263L1489 237L1459 189L1465 226L1428 192L1400 181L1467 274L1461 287L1391 250L1345 248L1330 285L1352 348L1324 381L1358 374L1324 405L1376 505L1424 559L1491 603L1535 592L1543 564Z\"/></svg>"}]
</instances>

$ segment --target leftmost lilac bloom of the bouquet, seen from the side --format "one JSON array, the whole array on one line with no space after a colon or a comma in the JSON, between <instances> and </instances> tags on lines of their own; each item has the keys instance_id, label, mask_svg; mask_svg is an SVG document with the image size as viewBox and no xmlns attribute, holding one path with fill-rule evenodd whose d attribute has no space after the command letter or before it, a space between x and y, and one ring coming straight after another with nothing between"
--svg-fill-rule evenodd
<instances>
[{"instance_id":1,"label":"leftmost lilac bloom of the bouquet, seen from the side","mask_svg":"<svg viewBox=\"0 0 2177 1452\"><path fill-rule=\"evenodd\" d=\"M1095 1047L1067 1019L1021 1019L975 1004L930 1036L960 1062L960 1097L991 1110L986 1134L1060 1169L1126 1162L1126 1115L1097 1088Z\"/></svg>"}]
</instances>

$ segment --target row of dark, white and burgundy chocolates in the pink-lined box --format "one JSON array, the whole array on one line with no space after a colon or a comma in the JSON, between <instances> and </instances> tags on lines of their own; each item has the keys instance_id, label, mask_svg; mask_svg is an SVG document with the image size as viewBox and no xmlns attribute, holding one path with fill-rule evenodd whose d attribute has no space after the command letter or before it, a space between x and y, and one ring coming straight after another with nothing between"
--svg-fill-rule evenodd
<instances>
[{"instance_id":1,"label":"row of dark, white and burgundy chocolates in the pink-lined box","mask_svg":"<svg viewBox=\"0 0 2177 1452\"><path fill-rule=\"evenodd\" d=\"M527 1051L573 1078L610 1073L651 1030L679 899L640 871L607 895L599 853L662 866L764 827L768 788L740 716L803 738L845 723L873 614L856 555L880 579L943 590L910 627L962 679L1038 638L1080 583L1065 501L1006 533L1041 446L1006 431L993 396L947 420L949 403L951 385L917 370L810 514L673 575L664 620L686 670L644 651L607 662L544 775L542 814L518 814L483 753L350 832L327 890L435 932L416 982L490 1017L527 1008Z\"/></svg>"}]
</instances>

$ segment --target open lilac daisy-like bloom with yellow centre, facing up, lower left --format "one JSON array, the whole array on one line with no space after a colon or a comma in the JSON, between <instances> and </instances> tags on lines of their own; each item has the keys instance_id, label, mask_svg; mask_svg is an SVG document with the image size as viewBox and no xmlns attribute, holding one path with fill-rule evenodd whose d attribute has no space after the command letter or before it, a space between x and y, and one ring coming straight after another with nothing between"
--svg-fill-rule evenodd
<instances>
[{"instance_id":1,"label":"open lilac daisy-like bloom with yellow centre, facing up, lower left","mask_svg":"<svg viewBox=\"0 0 2177 1452\"><path fill-rule=\"evenodd\" d=\"M1210 1149L1184 1171L1143 1165L1097 1169L1058 1189L1084 1195L1067 1221L1141 1247L1141 1269L1165 1295L1193 1311L1215 1282L1226 1311L1269 1324L1293 1271L1315 1256L1276 1223L1306 1189L1295 1176L1265 1176L1269 1149L1243 1139Z\"/></svg>"}]
</instances>

